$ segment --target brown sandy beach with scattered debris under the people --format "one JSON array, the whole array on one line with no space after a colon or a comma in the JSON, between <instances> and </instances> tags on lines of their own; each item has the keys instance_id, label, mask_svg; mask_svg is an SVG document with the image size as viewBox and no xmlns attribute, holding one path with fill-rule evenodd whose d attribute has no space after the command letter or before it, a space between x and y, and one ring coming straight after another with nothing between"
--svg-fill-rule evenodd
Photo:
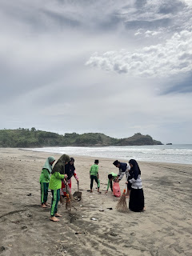
<instances>
[{"instance_id":1,"label":"brown sandy beach with scattered debris under the people","mask_svg":"<svg viewBox=\"0 0 192 256\"><path fill-rule=\"evenodd\" d=\"M191 165L138 162L146 211L125 214L115 209L119 198L110 190L105 194L107 174L118 173L112 164L116 159L99 158L102 194L97 193L95 183L94 193L90 194L89 171L94 158L73 156L82 201L73 201L71 211L59 205L62 218L56 223L50 222L50 209L40 206L39 176L50 155L53 154L0 149L2 256L192 255ZM60 155L54 157L58 159ZM122 190L125 182L123 177ZM72 178L72 194L75 190L77 183ZM129 199L127 205L128 202Z\"/></svg>"}]
</instances>

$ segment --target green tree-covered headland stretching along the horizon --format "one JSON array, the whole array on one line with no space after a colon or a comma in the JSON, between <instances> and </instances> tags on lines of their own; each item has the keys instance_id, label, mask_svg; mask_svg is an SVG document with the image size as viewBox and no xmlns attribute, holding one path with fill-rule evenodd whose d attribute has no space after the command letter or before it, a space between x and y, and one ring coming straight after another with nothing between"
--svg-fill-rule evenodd
<instances>
[{"instance_id":1,"label":"green tree-covered headland stretching along the horizon","mask_svg":"<svg viewBox=\"0 0 192 256\"><path fill-rule=\"evenodd\" d=\"M105 134L56 134L43 130L18 128L0 130L0 147L43 146L144 146L163 145L150 135L134 134L129 138L111 138Z\"/></svg>"}]
</instances>

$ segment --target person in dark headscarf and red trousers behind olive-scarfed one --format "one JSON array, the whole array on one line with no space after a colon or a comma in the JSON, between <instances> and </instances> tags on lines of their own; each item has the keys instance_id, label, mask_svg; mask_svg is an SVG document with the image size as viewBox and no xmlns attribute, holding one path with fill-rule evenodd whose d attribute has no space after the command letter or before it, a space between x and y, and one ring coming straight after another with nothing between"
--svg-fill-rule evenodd
<instances>
[{"instance_id":1,"label":"person in dark headscarf and red trousers behind olive-scarfed one","mask_svg":"<svg viewBox=\"0 0 192 256\"><path fill-rule=\"evenodd\" d=\"M67 174L68 188L70 189L70 193L71 193L71 178L72 178L72 176L74 176L74 178L78 182L78 175L77 175L75 167L74 167L74 158L70 158L70 162L68 162L68 164L65 166L65 174ZM60 194L62 195L62 197L66 197L65 182L62 182L62 188L61 188Z\"/></svg>"}]
</instances>

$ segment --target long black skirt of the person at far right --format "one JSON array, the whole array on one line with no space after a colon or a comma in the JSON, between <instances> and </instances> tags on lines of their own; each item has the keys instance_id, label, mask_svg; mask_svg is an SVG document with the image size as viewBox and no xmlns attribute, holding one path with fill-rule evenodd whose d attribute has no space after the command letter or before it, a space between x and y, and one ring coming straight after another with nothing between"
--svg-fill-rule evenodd
<instances>
[{"instance_id":1,"label":"long black skirt of the person at far right","mask_svg":"<svg viewBox=\"0 0 192 256\"><path fill-rule=\"evenodd\" d=\"M129 208L133 211L141 211L145 206L143 190L136 190L131 188L130 190L130 202Z\"/></svg>"}]
</instances>

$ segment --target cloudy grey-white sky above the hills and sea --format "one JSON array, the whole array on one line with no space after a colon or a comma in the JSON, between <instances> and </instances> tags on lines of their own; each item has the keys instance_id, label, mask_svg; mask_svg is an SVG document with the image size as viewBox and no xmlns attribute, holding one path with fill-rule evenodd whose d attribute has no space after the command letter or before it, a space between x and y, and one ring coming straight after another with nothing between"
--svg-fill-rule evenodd
<instances>
[{"instance_id":1,"label":"cloudy grey-white sky above the hills and sea","mask_svg":"<svg viewBox=\"0 0 192 256\"><path fill-rule=\"evenodd\" d=\"M192 143L191 0L1 0L0 129Z\"/></svg>"}]
</instances>

